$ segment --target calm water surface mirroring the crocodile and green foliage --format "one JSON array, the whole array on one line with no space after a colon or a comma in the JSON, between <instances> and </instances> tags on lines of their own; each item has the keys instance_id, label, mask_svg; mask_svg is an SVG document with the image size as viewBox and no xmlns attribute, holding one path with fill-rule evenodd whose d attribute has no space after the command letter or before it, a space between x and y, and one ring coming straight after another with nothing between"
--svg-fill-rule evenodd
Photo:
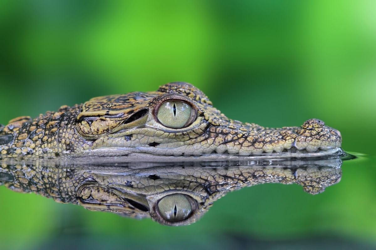
<instances>
[{"instance_id":1,"label":"calm water surface mirroring the crocodile and green foliage","mask_svg":"<svg viewBox=\"0 0 376 250\"><path fill-rule=\"evenodd\" d=\"M53 196L59 202L79 201L81 206L1 187L8 211L0 219L9 225L2 227L2 245L5 249L127 249L150 243L156 249L374 249L375 158L356 155L351 160L263 160L253 166L79 164L56 170L3 165L0 179L11 189ZM42 173L40 179L48 184L14 185L17 171L32 170ZM85 185L74 186L83 180ZM74 195L59 191L69 185L74 186ZM171 221L173 217L179 222ZM186 224L191 225L165 226Z\"/></svg>"}]
</instances>

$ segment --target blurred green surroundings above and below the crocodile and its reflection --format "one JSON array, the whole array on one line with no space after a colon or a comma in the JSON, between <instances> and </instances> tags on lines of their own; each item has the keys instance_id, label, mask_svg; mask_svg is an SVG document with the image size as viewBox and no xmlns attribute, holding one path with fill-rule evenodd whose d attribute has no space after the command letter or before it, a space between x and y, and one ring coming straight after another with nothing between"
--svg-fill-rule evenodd
<instances>
[{"instance_id":1,"label":"blurred green surroundings above and below the crocodile and its reflection","mask_svg":"<svg viewBox=\"0 0 376 250\"><path fill-rule=\"evenodd\" d=\"M269 127L319 118L341 131L345 150L374 154L375 11L367 0L2 0L0 123L186 81L230 118ZM243 189L181 228L1 187L0 248L299 245L327 235L374 244L373 166L346 162L343 180L317 196L295 185Z\"/></svg>"}]
</instances>

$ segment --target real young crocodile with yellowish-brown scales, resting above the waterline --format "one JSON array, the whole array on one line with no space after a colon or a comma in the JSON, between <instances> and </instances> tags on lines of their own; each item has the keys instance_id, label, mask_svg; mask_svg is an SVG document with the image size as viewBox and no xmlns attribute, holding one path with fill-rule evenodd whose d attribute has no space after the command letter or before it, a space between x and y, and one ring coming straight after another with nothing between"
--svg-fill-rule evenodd
<instances>
[{"instance_id":1,"label":"real young crocodile with yellowish-brown scales, resting above the waterline","mask_svg":"<svg viewBox=\"0 0 376 250\"><path fill-rule=\"evenodd\" d=\"M337 152L341 141L338 130L318 119L282 128L229 119L198 88L172 82L15 118L0 126L0 160L309 157Z\"/></svg>"}]
</instances>

